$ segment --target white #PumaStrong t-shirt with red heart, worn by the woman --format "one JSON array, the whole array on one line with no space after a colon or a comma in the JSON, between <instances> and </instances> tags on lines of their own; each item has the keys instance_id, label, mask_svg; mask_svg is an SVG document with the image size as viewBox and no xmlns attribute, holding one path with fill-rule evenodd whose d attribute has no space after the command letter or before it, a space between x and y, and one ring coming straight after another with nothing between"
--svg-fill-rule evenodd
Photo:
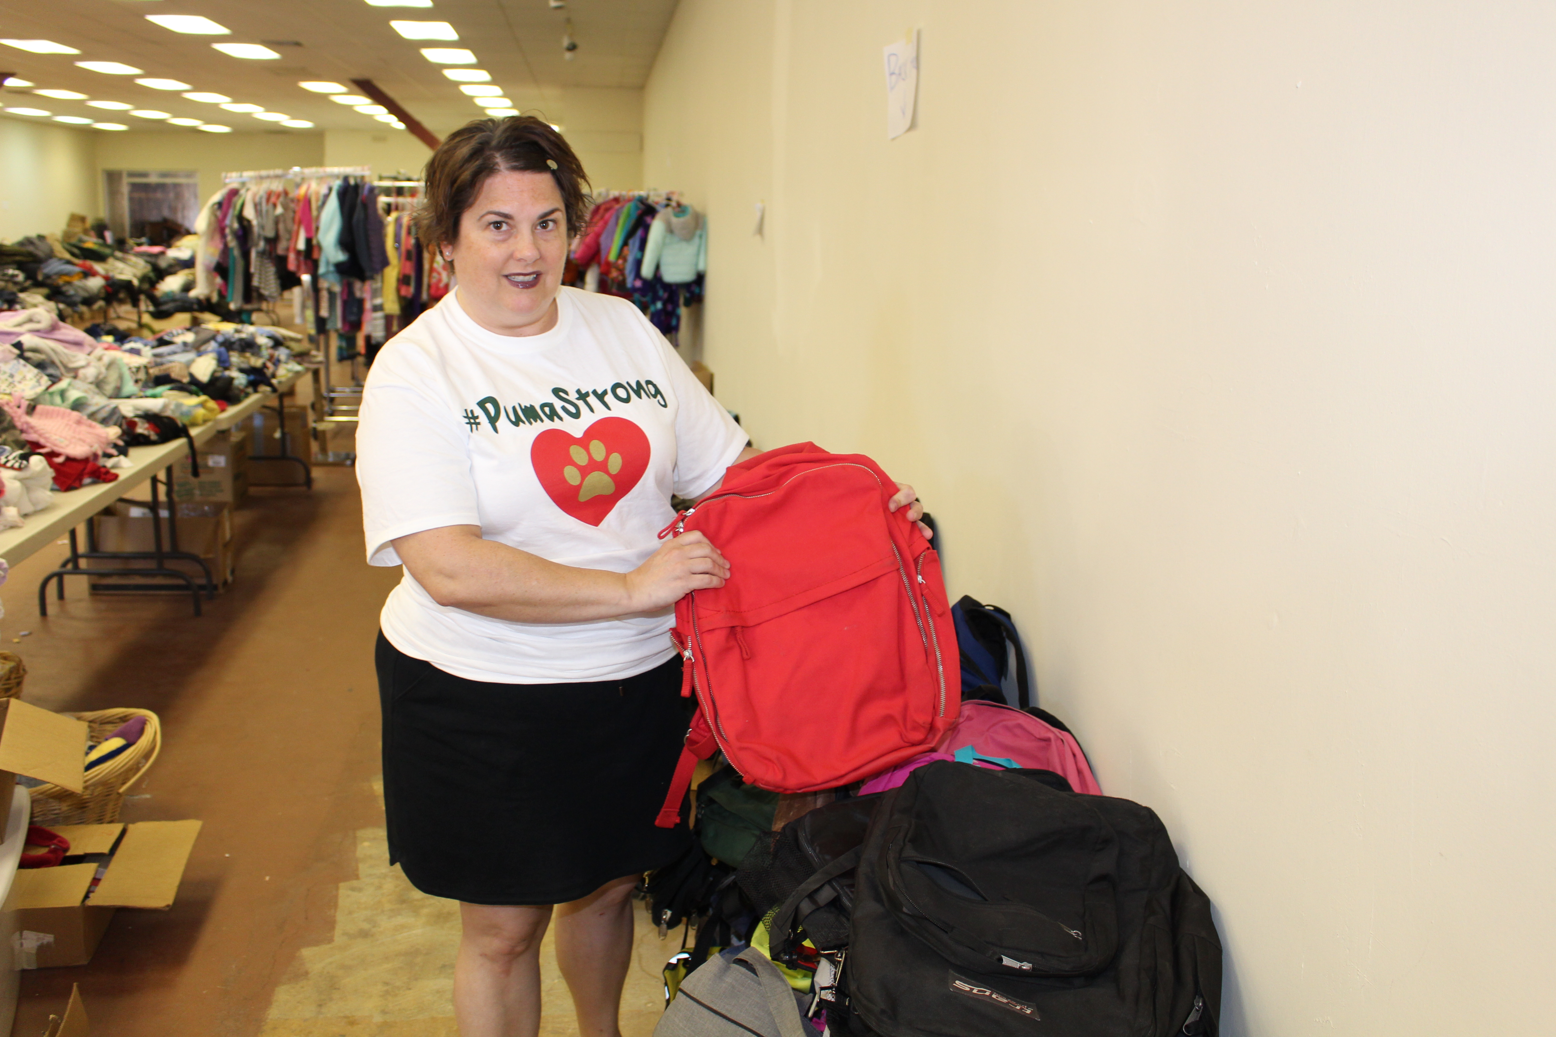
<instances>
[{"instance_id":1,"label":"white #PumaStrong t-shirt with red heart, worn by the woman","mask_svg":"<svg viewBox=\"0 0 1556 1037\"><path fill-rule=\"evenodd\" d=\"M705 493L745 432L624 299L557 294L543 334L487 331L456 292L384 345L363 390L356 479L367 561L397 536L479 525L568 566L629 572L658 549L671 493ZM518 623L439 605L406 571L384 636L456 676L509 684L607 681L671 658L674 611Z\"/></svg>"}]
</instances>

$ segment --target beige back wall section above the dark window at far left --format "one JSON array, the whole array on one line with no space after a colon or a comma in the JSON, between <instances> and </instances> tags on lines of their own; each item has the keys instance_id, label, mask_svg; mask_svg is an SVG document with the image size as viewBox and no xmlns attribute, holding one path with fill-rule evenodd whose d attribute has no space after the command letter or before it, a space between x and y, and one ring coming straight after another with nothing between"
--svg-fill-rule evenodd
<instances>
[{"instance_id":1,"label":"beige back wall section above the dark window at far left","mask_svg":"<svg viewBox=\"0 0 1556 1037\"><path fill-rule=\"evenodd\" d=\"M199 199L221 187L223 173L324 165L322 132L201 134L184 131L96 132L96 210L103 169L196 169Z\"/></svg>"}]
</instances>

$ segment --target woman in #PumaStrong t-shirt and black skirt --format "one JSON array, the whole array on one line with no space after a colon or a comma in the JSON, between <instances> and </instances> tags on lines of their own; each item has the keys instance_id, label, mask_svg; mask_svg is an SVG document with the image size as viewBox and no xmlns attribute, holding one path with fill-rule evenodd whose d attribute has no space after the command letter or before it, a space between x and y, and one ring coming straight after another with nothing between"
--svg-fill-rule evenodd
<instances>
[{"instance_id":1,"label":"woman in #PumaStrong t-shirt and black skirt","mask_svg":"<svg viewBox=\"0 0 1556 1037\"><path fill-rule=\"evenodd\" d=\"M389 854L461 902L465 1037L537 1032L552 917L579 1032L618 1037L629 896L691 838L654 827L686 732L671 606L730 578L658 530L756 452L632 303L562 288L585 185L537 118L443 141L417 221L457 288L384 345L358 426L369 561L405 566L377 647Z\"/></svg>"}]
</instances>

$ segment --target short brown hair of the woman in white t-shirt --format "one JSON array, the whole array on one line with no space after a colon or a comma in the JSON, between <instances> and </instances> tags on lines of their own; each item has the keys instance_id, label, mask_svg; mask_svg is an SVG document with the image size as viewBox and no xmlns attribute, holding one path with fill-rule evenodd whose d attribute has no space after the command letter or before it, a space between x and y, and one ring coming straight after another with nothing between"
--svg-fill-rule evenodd
<instances>
[{"instance_id":1,"label":"short brown hair of the woman in white t-shirt","mask_svg":"<svg viewBox=\"0 0 1556 1037\"><path fill-rule=\"evenodd\" d=\"M426 162L426 190L415 210L422 244L436 249L459 239L459 218L493 173L549 173L562 191L568 236L584 233L588 176L551 123L534 115L478 118L451 132Z\"/></svg>"}]
</instances>

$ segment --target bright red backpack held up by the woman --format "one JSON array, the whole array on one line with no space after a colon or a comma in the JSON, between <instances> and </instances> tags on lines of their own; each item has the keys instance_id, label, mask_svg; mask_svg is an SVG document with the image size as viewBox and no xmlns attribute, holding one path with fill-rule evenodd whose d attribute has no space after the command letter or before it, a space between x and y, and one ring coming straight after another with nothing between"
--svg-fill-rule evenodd
<instances>
[{"instance_id":1,"label":"bright red backpack held up by the woman","mask_svg":"<svg viewBox=\"0 0 1556 1037\"><path fill-rule=\"evenodd\" d=\"M671 637L697 697L664 808L674 827L699 759L753 785L820 791L935 746L962 704L940 558L896 484L814 443L730 468L663 535L702 530L730 580L675 603Z\"/></svg>"}]
</instances>

